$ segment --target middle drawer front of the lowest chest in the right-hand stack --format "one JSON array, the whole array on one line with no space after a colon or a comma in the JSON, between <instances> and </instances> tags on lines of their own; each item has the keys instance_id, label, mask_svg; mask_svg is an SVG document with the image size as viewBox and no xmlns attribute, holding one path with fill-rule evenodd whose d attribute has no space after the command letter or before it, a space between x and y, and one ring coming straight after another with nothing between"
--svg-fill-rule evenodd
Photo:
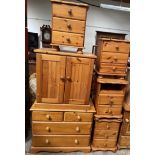
<instances>
[{"instance_id":1,"label":"middle drawer front of the lowest chest in the right-hand stack","mask_svg":"<svg viewBox=\"0 0 155 155\"><path fill-rule=\"evenodd\" d=\"M117 139L118 131L113 130L95 130L94 137L95 138L103 138L103 139Z\"/></svg>"}]
</instances>

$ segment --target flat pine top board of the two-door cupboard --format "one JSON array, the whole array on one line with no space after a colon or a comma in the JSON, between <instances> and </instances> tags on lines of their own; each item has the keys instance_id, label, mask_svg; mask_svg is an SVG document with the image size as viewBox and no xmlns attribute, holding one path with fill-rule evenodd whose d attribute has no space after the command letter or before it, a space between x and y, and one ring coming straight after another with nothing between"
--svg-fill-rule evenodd
<instances>
[{"instance_id":1,"label":"flat pine top board of the two-door cupboard","mask_svg":"<svg viewBox=\"0 0 155 155\"><path fill-rule=\"evenodd\" d=\"M83 57L83 58L92 58L95 59L97 56L94 54L84 53L78 54L73 52L62 52L62 51L53 51L51 48L40 48L35 49L34 52L42 54L52 54L52 55L63 55L63 56L73 56L73 57Z\"/></svg>"}]
</instances>

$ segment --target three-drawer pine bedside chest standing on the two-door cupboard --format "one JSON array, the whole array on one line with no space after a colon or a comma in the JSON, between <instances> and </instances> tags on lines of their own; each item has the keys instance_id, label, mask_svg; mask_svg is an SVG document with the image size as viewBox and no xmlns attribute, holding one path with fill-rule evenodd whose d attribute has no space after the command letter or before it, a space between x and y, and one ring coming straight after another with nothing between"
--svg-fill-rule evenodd
<instances>
[{"instance_id":1,"label":"three-drawer pine bedside chest standing on the two-door cupboard","mask_svg":"<svg viewBox=\"0 0 155 155\"><path fill-rule=\"evenodd\" d=\"M88 5L63 0L52 2L52 45L84 47Z\"/></svg>"}]
</instances>

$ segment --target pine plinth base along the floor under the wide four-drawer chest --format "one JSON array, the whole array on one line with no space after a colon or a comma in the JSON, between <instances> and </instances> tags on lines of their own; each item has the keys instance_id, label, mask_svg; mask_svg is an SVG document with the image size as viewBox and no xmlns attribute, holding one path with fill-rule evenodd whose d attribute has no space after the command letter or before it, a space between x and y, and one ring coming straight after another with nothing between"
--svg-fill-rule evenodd
<instances>
[{"instance_id":1,"label":"pine plinth base along the floor under the wide four-drawer chest","mask_svg":"<svg viewBox=\"0 0 155 155\"><path fill-rule=\"evenodd\" d=\"M85 153L89 153L91 147L33 147L31 146L31 153L37 152L74 152L81 151Z\"/></svg>"}]
</instances>

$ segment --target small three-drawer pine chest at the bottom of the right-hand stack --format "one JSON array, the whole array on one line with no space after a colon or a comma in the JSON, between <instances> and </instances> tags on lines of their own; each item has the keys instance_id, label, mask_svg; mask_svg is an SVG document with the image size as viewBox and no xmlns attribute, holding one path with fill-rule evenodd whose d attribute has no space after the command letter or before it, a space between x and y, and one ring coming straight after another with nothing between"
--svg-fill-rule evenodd
<instances>
[{"instance_id":1,"label":"small three-drawer pine chest at the bottom of the right-hand stack","mask_svg":"<svg viewBox=\"0 0 155 155\"><path fill-rule=\"evenodd\" d=\"M95 117L92 150L116 151L121 121L121 119L103 119Z\"/></svg>"}]
</instances>

